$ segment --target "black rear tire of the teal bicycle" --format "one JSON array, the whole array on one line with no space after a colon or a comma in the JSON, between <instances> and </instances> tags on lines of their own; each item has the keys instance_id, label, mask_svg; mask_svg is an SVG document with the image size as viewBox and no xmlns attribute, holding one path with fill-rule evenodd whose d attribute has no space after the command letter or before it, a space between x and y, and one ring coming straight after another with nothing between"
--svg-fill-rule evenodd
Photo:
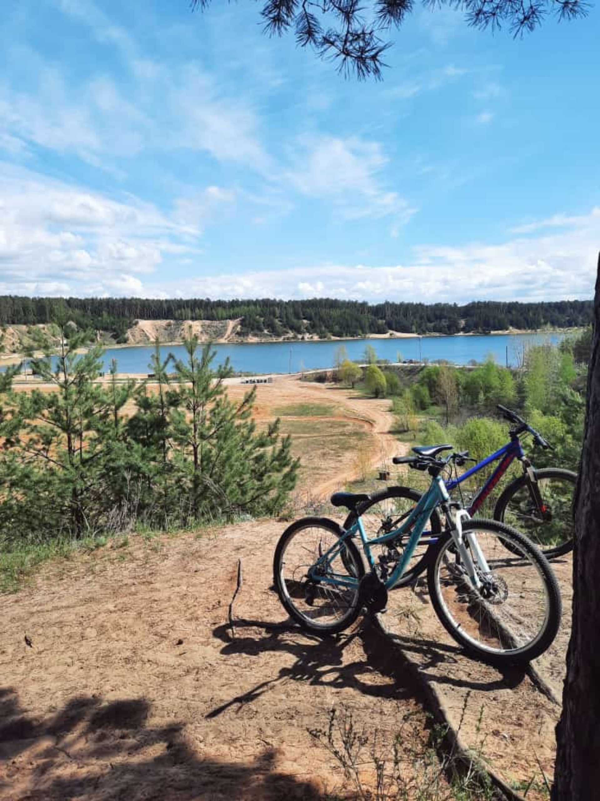
<instances>
[{"instance_id":1,"label":"black rear tire of the teal bicycle","mask_svg":"<svg viewBox=\"0 0 600 801\"><path fill-rule=\"evenodd\" d=\"M282 602L282 606L285 608L286 612L290 615L290 618L293 618L303 629L306 631L310 631L312 634L319 634L319 635L326 635L326 634L338 634L340 631L345 630L348 626L351 626L352 623L358 618L358 614L361 611L361 603L360 603L360 594L358 591L358 582L365 574L365 569L362 564L362 558L360 557L360 553L358 553L358 549L354 542L350 539L346 540L345 547L342 553L347 553L347 558L350 562L353 563L354 570L356 574L353 575L353 578L357 578L356 590L353 593L353 597L351 599L350 606L346 612L342 616L342 619L338 622L330 622L330 623L323 623L323 622L316 622L310 617L307 617L307 614L302 614L302 610L299 606L295 606L293 599L290 594L290 585L294 582L296 585L300 584L301 582L298 581L298 578L285 578L283 571L285 567L285 557L286 557L286 549L290 545L290 541L294 539L303 529L322 529L323 532L327 532L331 535L331 537L341 537L343 530L340 526L332 520L329 520L326 517L302 517L300 520L295 521L291 525L289 525L286 530L282 533L282 536L279 538L277 547L275 549L274 558L273 558L273 582L275 589L277 590L279 600ZM304 557L306 559L306 557ZM342 564L342 558L339 559L340 565ZM306 565L305 565L306 566ZM302 570L301 566L297 566L298 570ZM302 587L300 588L300 595L302 592L305 593L305 603L311 607L312 604L306 600L306 587L308 582L304 582ZM333 591L331 591L333 594ZM349 591L350 592L350 591ZM298 594L298 592L296 592ZM316 591L314 593L316 595ZM314 599L313 599L314 603ZM308 611L308 610L307 610ZM318 612L318 610L316 610Z\"/></svg>"}]
</instances>

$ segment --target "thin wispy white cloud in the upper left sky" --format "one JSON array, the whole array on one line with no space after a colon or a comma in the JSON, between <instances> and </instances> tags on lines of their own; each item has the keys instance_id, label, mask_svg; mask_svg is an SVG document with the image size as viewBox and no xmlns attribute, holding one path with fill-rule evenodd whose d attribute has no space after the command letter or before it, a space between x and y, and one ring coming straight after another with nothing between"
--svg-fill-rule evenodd
<instances>
[{"instance_id":1,"label":"thin wispy white cloud in the upper left sky","mask_svg":"<svg viewBox=\"0 0 600 801\"><path fill-rule=\"evenodd\" d=\"M197 63L168 69L132 57L127 66L130 78L119 86L103 74L77 83L56 66L40 67L35 92L0 79L0 148L26 155L33 143L109 171L115 168L106 167L105 156L112 161L175 148L206 151L254 171L272 168L250 103L226 92Z\"/></svg>"}]
</instances>

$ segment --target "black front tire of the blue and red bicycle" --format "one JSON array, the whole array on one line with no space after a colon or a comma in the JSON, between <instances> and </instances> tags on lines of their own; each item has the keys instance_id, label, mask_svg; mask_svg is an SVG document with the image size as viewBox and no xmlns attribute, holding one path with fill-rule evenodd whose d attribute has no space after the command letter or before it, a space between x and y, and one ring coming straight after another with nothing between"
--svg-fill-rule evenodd
<instances>
[{"instance_id":1,"label":"black front tire of the blue and red bicycle","mask_svg":"<svg viewBox=\"0 0 600 801\"><path fill-rule=\"evenodd\" d=\"M498 502L496 503L494 509L494 520L497 520L501 523L506 521L508 525L512 525L524 533L526 537L528 537L534 543L534 545L538 545L538 548L542 551L546 558L551 559L558 556L564 556L565 553L569 553L571 550L573 550L574 521L572 497L574 497L575 487L577 486L577 473L574 473L573 470L566 470L556 467L535 470L534 473L538 481L544 481L545 479L554 482L562 481L565 482L566 485L569 485L569 488L572 488L573 490L570 501L570 509L568 510L570 517L570 530L566 530L564 540L559 545L545 546L543 542L544 537L539 535L537 532L537 529L543 531L544 526L542 521L539 521L539 518L538 523L536 524L534 515L527 515L525 513L519 515L516 509L514 515L510 516L510 503L514 502L515 507L518 504L518 501L515 499L518 497L518 493L521 492L521 490L527 485L526 475L519 476L517 479L512 481L506 487L502 495L498 498ZM567 489L565 497L567 497L569 494L570 493ZM523 500L525 500L525 497L525 493L523 493ZM563 517L565 516L566 511L567 510L563 505ZM507 515L509 519L506 519ZM528 521L530 521L533 525L528 525Z\"/></svg>"}]
</instances>

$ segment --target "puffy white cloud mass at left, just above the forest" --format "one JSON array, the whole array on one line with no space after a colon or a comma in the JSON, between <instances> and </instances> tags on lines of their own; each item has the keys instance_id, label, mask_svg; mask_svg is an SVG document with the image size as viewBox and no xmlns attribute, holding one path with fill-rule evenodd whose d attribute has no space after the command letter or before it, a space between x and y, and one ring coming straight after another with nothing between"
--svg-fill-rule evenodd
<instances>
[{"instance_id":1,"label":"puffy white cloud mass at left, just above the forest","mask_svg":"<svg viewBox=\"0 0 600 801\"><path fill-rule=\"evenodd\" d=\"M214 195L212 187L209 195ZM168 254L198 252L193 221L0 163L0 286L25 294L139 294Z\"/></svg>"}]
</instances>

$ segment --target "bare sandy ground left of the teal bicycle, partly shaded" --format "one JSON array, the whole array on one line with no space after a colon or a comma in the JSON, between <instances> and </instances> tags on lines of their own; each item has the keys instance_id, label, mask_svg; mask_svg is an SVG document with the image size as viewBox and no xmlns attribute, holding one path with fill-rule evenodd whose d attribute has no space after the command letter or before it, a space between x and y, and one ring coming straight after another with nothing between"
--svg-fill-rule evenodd
<instances>
[{"instance_id":1,"label":"bare sandy ground left of the teal bicycle, partly shaded","mask_svg":"<svg viewBox=\"0 0 600 801\"><path fill-rule=\"evenodd\" d=\"M270 590L282 528L107 548L3 597L3 801L316 799L343 784L308 733L332 707L388 754L404 715L425 727L374 634L322 642L286 623Z\"/></svg>"}]
</instances>

